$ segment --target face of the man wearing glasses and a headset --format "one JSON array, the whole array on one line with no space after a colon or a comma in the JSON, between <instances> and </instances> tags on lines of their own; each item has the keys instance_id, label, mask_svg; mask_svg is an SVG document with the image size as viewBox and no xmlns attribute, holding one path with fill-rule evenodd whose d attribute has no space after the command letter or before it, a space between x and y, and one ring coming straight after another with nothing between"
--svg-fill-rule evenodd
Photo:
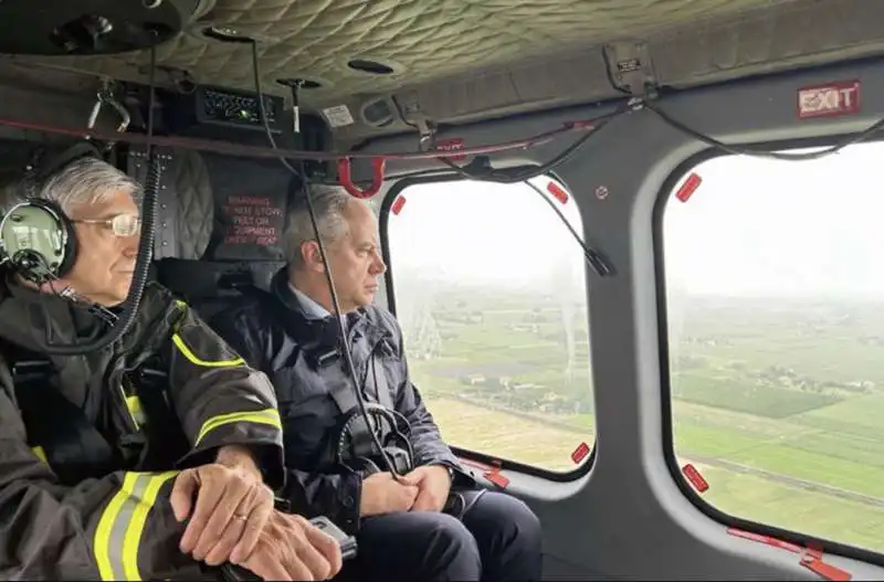
<instances>
[{"instance_id":1,"label":"face of the man wearing glasses and a headset","mask_svg":"<svg viewBox=\"0 0 884 582\"><path fill-rule=\"evenodd\" d=\"M105 307L126 300L135 272L140 230L127 236L115 234L109 221L120 214L139 215L138 207L125 191L117 191L102 202L81 204L71 210L69 218L74 222L77 256L71 272L54 285L56 290L70 285L78 295Z\"/></svg>"}]
</instances>

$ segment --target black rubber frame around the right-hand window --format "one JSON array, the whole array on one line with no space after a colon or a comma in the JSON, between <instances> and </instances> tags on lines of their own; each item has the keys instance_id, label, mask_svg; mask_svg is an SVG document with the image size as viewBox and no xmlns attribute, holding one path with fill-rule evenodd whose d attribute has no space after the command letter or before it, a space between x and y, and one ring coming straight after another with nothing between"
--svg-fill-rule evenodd
<instances>
[{"instance_id":1,"label":"black rubber frame around the right-hand window","mask_svg":"<svg viewBox=\"0 0 884 582\"><path fill-rule=\"evenodd\" d=\"M803 139L782 139L774 141L755 142L747 146L741 146L741 149L760 149L760 150L793 150L802 148L825 148L833 147L838 142L845 139L855 137L856 134L836 134L824 137L812 137ZM877 139L865 138L855 144L880 144L884 146L884 136ZM657 192L656 200L652 209L651 218L651 236L653 241L654 253L654 271L656 273L656 322L657 322L657 353L660 364L660 389L661 389L661 444L663 445L663 458L675 485L681 493L691 501L706 517L722 523L728 528L737 528L751 533L768 536L778 540L787 541L803 549L815 548L825 553L842 555L859 561L869 562L875 565L884 567L884 552L875 552L865 548L852 546L850 543L834 541L828 538L820 538L809 533L801 533L790 529L771 526L753 521L747 518L733 516L726 511L714 506L712 502L703 498L703 496L694 489L687 478L684 476L675 452L674 427L675 419L673 417L672 406L672 378L671 378L671 361L670 361L670 342L669 342L669 311L667 311L667 294L666 294L666 257L665 257L665 236L664 236L664 218L669 203L674 199L675 188L681 183L684 178L695 171L697 167L712 159L722 158L726 156L735 157L736 154L722 151L718 148L706 148L696 152L681 163L678 163L664 180L660 191Z\"/></svg>"}]
</instances>

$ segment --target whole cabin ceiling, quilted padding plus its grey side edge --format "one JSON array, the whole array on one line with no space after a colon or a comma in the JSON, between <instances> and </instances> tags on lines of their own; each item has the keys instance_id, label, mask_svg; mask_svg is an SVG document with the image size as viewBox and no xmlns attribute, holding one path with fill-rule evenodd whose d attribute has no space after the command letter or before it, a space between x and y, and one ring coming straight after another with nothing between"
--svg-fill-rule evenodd
<instances>
[{"instance_id":1,"label":"whole cabin ceiling, quilted padding plus its grey side edge","mask_svg":"<svg viewBox=\"0 0 884 582\"><path fill-rule=\"evenodd\" d=\"M646 44L656 80L687 87L884 52L884 2L871 0L201 0L187 31L160 46L169 84L253 88L251 49L207 39L227 27L260 42L263 88L299 77L313 110L346 105L350 137L390 130L364 123L372 97L417 103L463 121L618 96L602 45ZM354 59L391 68L371 74ZM93 74L146 82L148 55L7 56L0 75L94 91ZM84 76L83 73L86 73ZM84 81L85 80L85 81ZM388 102L389 103L389 102ZM393 125L393 129L402 126Z\"/></svg>"}]
</instances>

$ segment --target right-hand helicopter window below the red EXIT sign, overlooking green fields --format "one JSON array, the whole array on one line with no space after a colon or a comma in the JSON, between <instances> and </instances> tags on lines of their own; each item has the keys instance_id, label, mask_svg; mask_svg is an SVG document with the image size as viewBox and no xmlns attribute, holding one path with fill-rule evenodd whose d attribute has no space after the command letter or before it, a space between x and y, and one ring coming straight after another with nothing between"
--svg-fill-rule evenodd
<instances>
[{"instance_id":1,"label":"right-hand helicopter window below the red EXIT sign, overlooking green fields","mask_svg":"<svg viewBox=\"0 0 884 582\"><path fill-rule=\"evenodd\" d=\"M669 193L661 231L674 468L724 514L875 552L882 159L714 158Z\"/></svg>"}]
</instances>

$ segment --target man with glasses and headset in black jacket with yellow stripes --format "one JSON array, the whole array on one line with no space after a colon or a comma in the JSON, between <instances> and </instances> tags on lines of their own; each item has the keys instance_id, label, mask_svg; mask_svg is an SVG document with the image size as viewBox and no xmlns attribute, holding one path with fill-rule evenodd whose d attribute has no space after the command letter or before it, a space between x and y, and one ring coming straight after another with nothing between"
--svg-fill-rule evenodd
<instances>
[{"instance_id":1,"label":"man with glasses and headset in black jacket with yellow stripes","mask_svg":"<svg viewBox=\"0 0 884 582\"><path fill-rule=\"evenodd\" d=\"M140 190L88 148L44 159L0 222L0 578L196 579L228 563L334 575L337 542L274 509L273 388L187 305L148 284L117 341L50 349L119 315Z\"/></svg>"}]
</instances>

